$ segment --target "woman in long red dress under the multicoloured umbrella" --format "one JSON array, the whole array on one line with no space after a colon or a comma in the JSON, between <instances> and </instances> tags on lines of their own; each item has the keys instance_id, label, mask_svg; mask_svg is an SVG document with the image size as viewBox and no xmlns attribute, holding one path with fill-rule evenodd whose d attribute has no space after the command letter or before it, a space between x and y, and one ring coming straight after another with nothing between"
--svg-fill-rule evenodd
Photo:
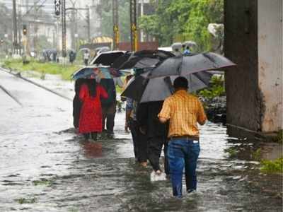
<instances>
[{"instance_id":1,"label":"woman in long red dress under the multicoloured umbrella","mask_svg":"<svg viewBox=\"0 0 283 212\"><path fill-rule=\"evenodd\" d=\"M87 79L79 93L83 102L79 118L79 133L88 140L97 139L97 133L102 131L102 109L100 98L108 98L104 88L96 83L95 79Z\"/></svg>"}]
</instances>

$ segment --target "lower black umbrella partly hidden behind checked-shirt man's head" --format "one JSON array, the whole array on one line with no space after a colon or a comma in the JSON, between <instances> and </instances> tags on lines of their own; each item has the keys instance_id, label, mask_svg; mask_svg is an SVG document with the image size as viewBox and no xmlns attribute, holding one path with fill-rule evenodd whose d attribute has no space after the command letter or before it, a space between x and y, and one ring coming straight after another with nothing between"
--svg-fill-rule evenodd
<instances>
[{"instance_id":1,"label":"lower black umbrella partly hidden behind checked-shirt man's head","mask_svg":"<svg viewBox=\"0 0 283 212\"><path fill-rule=\"evenodd\" d=\"M132 78L121 96L132 98L139 102L154 102L168 98L173 93L173 81L178 76L148 78L150 71ZM209 85L212 73L203 71L187 76L189 91L195 92Z\"/></svg>"}]
</instances>

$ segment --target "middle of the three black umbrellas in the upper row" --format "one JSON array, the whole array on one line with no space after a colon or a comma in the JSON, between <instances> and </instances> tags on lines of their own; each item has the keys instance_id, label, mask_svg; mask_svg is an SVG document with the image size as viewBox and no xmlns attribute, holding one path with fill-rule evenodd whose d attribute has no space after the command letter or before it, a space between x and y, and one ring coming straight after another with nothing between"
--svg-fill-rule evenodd
<instances>
[{"instance_id":1,"label":"middle of the three black umbrellas in the upper row","mask_svg":"<svg viewBox=\"0 0 283 212\"><path fill-rule=\"evenodd\" d=\"M134 68L148 68L156 66L161 61L174 57L171 52L162 50L142 50L139 52L127 52L127 54L117 58L112 64L115 69L134 69Z\"/></svg>"}]
</instances>

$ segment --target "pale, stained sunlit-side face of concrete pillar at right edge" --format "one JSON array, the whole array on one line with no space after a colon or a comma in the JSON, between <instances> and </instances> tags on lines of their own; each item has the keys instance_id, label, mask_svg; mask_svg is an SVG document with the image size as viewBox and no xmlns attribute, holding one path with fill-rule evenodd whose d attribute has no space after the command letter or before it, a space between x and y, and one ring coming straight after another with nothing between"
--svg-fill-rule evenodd
<instances>
[{"instance_id":1,"label":"pale, stained sunlit-side face of concrete pillar at right edge","mask_svg":"<svg viewBox=\"0 0 283 212\"><path fill-rule=\"evenodd\" d=\"M265 102L264 132L283 128L282 57L282 0L258 0L258 80Z\"/></svg>"}]
</instances>

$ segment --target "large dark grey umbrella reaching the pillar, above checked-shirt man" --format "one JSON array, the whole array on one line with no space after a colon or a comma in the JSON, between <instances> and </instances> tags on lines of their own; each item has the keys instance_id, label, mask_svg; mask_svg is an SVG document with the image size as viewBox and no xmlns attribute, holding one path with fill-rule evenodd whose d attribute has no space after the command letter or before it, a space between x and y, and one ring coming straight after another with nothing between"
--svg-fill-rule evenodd
<instances>
[{"instance_id":1,"label":"large dark grey umbrella reaching the pillar, above checked-shirt man","mask_svg":"<svg viewBox=\"0 0 283 212\"><path fill-rule=\"evenodd\" d=\"M160 76L187 76L199 71L217 70L236 66L226 57L213 52L192 54L191 56L171 57L151 71L150 78Z\"/></svg>"}]
</instances>

